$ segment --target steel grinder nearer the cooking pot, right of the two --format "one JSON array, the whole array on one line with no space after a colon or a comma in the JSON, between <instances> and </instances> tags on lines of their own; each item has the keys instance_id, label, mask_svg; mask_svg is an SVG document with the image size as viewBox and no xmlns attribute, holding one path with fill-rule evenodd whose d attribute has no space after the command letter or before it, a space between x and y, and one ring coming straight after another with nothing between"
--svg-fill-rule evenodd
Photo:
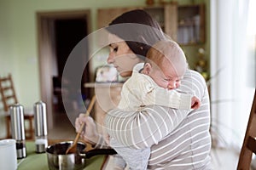
<instances>
[{"instance_id":1,"label":"steel grinder nearer the cooking pot, right of the two","mask_svg":"<svg viewBox=\"0 0 256 170\"><path fill-rule=\"evenodd\" d=\"M34 113L36 152L43 153L48 146L46 105L43 101L34 104Z\"/></svg>"}]
</instances>

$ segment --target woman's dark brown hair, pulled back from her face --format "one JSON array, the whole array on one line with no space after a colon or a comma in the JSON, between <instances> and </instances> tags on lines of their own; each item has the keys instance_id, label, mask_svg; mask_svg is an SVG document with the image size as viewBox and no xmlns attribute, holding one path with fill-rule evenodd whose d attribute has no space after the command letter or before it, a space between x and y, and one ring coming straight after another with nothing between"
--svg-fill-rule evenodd
<instances>
[{"instance_id":1,"label":"woman's dark brown hair, pulled back from her face","mask_svg":"<svg viewBox=\"0 0 256 170\"><path fill-rule=\"evenodd\" d=\"M159 23L142 9L119 15L106 29L125 40L138 57L144 59L155 42L166 39Z\"/></svg>"}]
</instances>

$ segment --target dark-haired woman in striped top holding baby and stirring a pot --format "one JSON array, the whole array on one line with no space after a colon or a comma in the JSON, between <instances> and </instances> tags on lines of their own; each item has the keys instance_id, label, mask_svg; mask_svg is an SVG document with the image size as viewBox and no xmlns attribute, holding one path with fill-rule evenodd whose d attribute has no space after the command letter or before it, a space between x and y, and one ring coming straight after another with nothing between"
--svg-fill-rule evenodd
<instances>
[{"instance_id":1,"label":"dark-haired woman in striped top holding baby and stirring a pot","mask_svg":"<svg viewBox=\"0 0 256 170\"><path fill-rule=\"evenodd\" d=\"M148 48L166 38L158 23L143 10L120 15L107 30L111 42L108 63L113 64L122 77L130 77L133 66L143 62ZM151 105L136 112L114 109L106 116L108 133L119 143L135 149L151 147L148 169L212 169L206 83L199 73L188 70L181 84L181 91L201 99L199 109L185 111ZM86 124L82 133L84 140L96 148L105 147L91 117L80 114L76 120L77 130L82 122Z\"/></svg>"}]
</instances>

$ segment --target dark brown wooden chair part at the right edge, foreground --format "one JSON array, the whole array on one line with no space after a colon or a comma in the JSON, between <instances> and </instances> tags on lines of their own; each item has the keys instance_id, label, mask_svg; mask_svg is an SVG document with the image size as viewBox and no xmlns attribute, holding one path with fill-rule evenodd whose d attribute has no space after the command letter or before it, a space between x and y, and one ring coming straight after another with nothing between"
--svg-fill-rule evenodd
<instances>
[{"instance_id":1,"label":"dark brown wooden chair part at the right edge, foreground","mask_svg":"<svg viewBox=\"0 0 256 170\"><path fill-rule=\"evenodd\" d=\"M237 170L250 169L253 153L256 154L256 90L247 124L247 131L241 147Z\"/></svg>"}]
</instances>

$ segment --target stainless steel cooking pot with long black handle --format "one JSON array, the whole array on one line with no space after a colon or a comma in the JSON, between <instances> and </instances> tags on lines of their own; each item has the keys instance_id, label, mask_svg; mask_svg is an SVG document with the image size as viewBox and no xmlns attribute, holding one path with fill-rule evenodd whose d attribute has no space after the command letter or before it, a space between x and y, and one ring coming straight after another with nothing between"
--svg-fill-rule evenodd
<instances>
[{"instance_id":1,"label":"stainless steel cooking pot with long black handle","mask_svg":"<svg viewBox=\"0 0 256 170\"><path fill-rule=\"evenodd\" d=\"M86 159L98 155L116 154L113 149L94 149L85 151L86 144L79 142L77 144L77 152L66 155L66 150L73 144L73 141L61 142L49 145L46 148L49 170L71 170L84 169L86 167Z\"/></svg>"}]
</instances>

